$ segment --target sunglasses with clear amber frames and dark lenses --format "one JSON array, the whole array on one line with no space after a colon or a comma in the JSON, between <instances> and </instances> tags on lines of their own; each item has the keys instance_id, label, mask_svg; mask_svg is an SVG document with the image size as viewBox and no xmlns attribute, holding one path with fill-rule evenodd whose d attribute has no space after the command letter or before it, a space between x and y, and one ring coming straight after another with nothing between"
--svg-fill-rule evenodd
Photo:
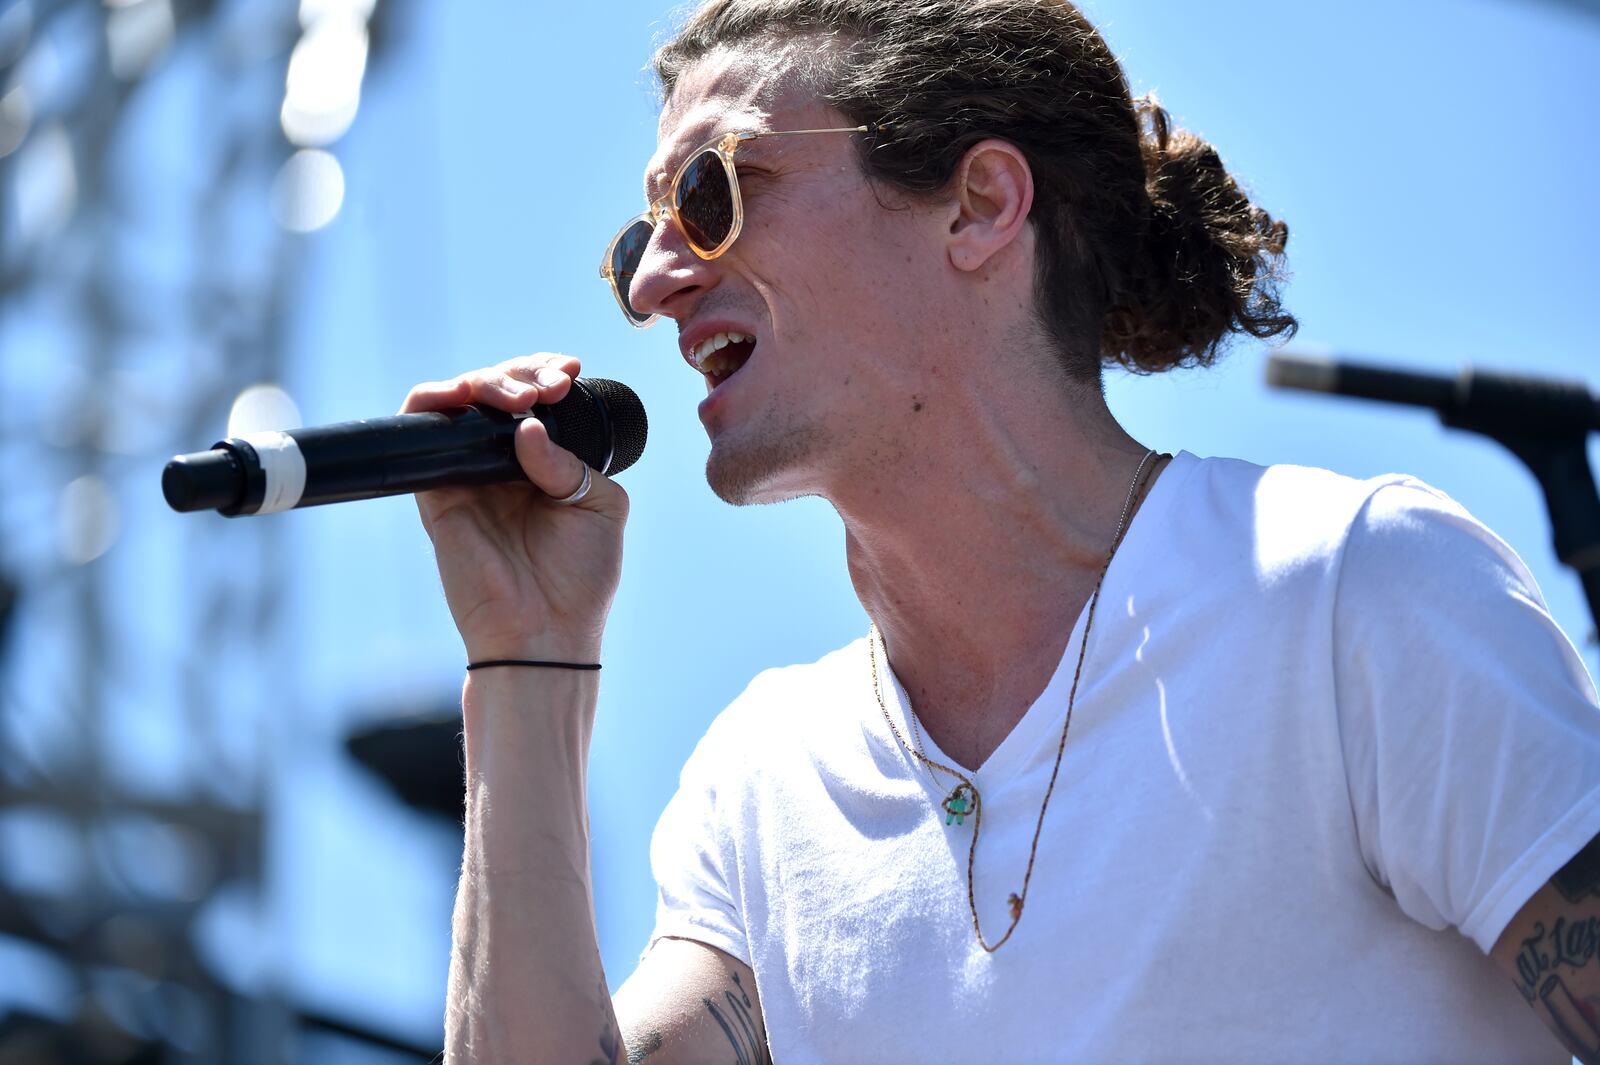
<instances>
[{"instance_id":1,"label":"sunglasses with clear amber frames and dark lenses","mask_svg":"<svg viewBox=\"0 0 1600 1065\"><path fill-rule=\"evenodd\" d=\"M725 133L707 141L678 166L672 176L667 195L661 197L638 217L618 230L600 259L600 277L611 283L611 294L629 323L638 329L651 325L658 315L645 313L629 301L627 289L634 273L645 257L645 248L656 225L670 221L683 233L690 251L701 259L715 259L733 246L744 229L744 200L739 197L739 171L733 154L746 141L757 138L792 138L805 133L867 133L867 126L838 130L765 130L758 133Z\"/></svg>"}]
</instances>

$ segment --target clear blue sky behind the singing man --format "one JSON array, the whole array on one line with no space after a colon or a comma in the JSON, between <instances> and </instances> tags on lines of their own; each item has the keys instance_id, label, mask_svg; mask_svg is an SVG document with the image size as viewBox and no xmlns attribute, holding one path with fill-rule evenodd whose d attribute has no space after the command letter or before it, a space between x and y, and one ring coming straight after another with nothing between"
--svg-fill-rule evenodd
<instances>
[{"instance_id":1,"label":"clear blue sky behind the singing man","mask_svg":"<svg viewBox=\"0 0 1600 1065\"><path fill-rule=\"evenodd\" d=\"M1600 19L1512 0L1085 8L1136 91L1158 91L1290 222L1286 296L1302 347L1600 389L1600 149L1587 120ZM282 381L315 424L389 413L418 381L560 350L643 398L651 441L621 478L634 510L590 776L613 983L650 929L650 830L707 721L758 670L866 628L832 512L712 497L694 417L704 387L670 323L627 328L595 277L603 243L642 206L654 142L645 61L670 21L635 0L408 5L406 32L333 149L344 208L298 238ZM160 152L160 136L136 150ZM1566 632L1587 635L1576 579L1555 563L1542 502L1515 461L1422 411L1272 392L1264 360L1242 344L1208 371L1112 374L1112 409L1168 451L1414 473L1506 537ZM1600 446L1590 456L1600 462ZM154 491L150 470L141 477L128 493ZM131 513L134 542L195 521ZM459 856L446 830L397 809L338 753L355 724L456 699L462 651L427 540L408 499L262 521L280 525L298 577L291 665L282 691L262 692L293 696L296 708L269 739L282 787L258 964L298 996L430 1038ZM1594 670L1592 648L1586 662Z\"/></svg>"}]
</instances>

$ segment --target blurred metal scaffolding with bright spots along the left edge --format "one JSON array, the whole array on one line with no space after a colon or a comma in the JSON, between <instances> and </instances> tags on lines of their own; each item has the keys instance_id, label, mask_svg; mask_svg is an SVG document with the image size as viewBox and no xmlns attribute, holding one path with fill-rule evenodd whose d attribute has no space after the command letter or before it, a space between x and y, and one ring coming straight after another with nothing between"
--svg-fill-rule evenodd
<instances>
[{"instance_id":1,"label":"blurred metal scaffolding with bright spots along the left edge","mask_svg":"<svg viewBox=\"0 0 1600 1065\"><path fill-rule=\"evenodd\" d=\"M294 230L331 219L296 181L387 10L0 0L0 1065L291 1062L306 1028L427 1054L229 956L270 953L286 545L149 532L160 462L283 376Z\"/></svg>"}]
</instances>

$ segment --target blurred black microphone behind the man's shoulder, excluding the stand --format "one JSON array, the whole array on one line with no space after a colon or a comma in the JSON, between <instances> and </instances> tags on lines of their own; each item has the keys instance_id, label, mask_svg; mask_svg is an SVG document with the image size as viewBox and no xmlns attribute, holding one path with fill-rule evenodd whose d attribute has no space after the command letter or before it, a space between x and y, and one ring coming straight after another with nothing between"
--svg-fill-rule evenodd
<instances>
[{"instance_id":1,"label":"blurred black microphone behind the man's shoulder, excluding the stand","mask_svg":"<svg viewBox=\"0 0 1600 1065\"><path fill-rule=\"evenodd\" d=\"M1427 406L1438 411L1446 425L1491 437L1568 438L1600 430L1600 397L1581 381L1486 373L1470 366L1446 377L1277 352L1267 360L1267 384Z\"/></svg>"}]
</instances>

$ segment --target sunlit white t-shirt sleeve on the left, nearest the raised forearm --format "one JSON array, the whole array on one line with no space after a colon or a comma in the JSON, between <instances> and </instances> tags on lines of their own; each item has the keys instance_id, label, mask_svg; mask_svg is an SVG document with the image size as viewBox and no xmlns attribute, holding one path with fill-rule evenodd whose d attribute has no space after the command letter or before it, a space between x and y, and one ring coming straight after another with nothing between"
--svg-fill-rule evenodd
<instances>
[{"instance_id":1,"label":"sunlit white t-shirt sleeve on the left, nearest the raised forearm","mask_svg":"<svg viewBox=\"0 0 1600 1065\"><path fill-rule=\"evenodd\" d=\"M736 884L728 876L734 856L725 849L728 835L717 817L715 769L723 761L715 755L717 734L712 724L694 747L678 774L678 790L650 840L650 868L658 889L650 947L662 937L693 939L750 964Z\"/></svg>"}]
</instances>

